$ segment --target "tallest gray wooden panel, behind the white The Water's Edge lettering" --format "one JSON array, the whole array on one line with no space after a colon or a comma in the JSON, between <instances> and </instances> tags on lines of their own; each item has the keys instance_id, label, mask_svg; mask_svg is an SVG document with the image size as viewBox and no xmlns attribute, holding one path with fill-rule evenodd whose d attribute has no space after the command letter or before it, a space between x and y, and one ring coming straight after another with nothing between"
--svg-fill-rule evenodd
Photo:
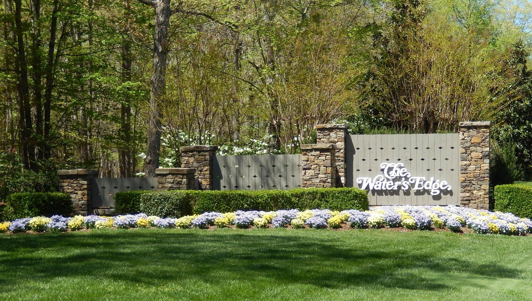
<instances>
[{"instance_id":1,"label":"tallest gray wooden panel, behind the white The Water's Edge lettering","mask_svg":"<svg viewBox=\"0 0 532 301\"><path fill-rule=\"evenodd\" d=\"M348 135L346 185L360 187L359 177L383 174L381 163L402 162L412 177L445 180L451 191L430 195L424 190L373 190L371 205L458 205L460 197L459 135Z\"/></svg>"}]
</instances>

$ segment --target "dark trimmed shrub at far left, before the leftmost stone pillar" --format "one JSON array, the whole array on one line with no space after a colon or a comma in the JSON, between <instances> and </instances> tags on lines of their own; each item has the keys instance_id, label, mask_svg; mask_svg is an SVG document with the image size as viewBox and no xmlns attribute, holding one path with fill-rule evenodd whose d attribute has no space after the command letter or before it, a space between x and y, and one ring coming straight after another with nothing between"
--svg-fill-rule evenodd
<instances>
[{"instance_id":1,"label":"dark trimmed shrub at far left, before the leftmost stone pillar","mask_svg":"<svg viewBox=\"0 0 532 301\"><path fill-rule=\"evenodd\" d=\"M16 193L7 196L4 218L14 220L30 216L72 215L70 196L62 193Z\"/></svg>"}]
</instances>

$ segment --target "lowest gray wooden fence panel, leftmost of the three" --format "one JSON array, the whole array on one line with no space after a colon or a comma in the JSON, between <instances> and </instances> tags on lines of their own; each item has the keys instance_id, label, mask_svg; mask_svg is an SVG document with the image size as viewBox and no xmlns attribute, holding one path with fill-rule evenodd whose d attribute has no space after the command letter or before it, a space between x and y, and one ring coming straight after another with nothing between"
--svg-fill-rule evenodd
<instances>
[{"instance_id":1,"label":"lowest gray wooden fence panel, leftmost of the three","mask_svg":"<svg viewBox=\"0 0 532 301\"><path fill-rule=\"evenodd\" d=\"M93 207L113 207L115 193L131 190L157 190L157 178L95 178Z\"/></svg>"}]
</instances>

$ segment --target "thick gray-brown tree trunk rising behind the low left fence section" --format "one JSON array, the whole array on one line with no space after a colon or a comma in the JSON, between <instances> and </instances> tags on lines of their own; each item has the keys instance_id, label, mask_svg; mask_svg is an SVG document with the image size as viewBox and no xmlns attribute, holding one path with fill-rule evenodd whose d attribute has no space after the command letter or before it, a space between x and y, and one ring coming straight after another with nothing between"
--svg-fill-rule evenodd
<instances>
[{"instance_id":1,"label":"thick gray-brown tree trunk rising behind the low left fence section","mask_svg":"<svg viewBox=\"0 0 532 301\"><path fill-rule=\"evenodd\" d=\"M170 24L170 0L157 0L142 3L152 5L155 10L155 34L153 53L153 74L151 93L149 95L149 127L145 158L146 177L155 177L159 168L159 150L161 148L161 111L159 102L164 95L164 72L168 54L168 27Z\"/></svg>"}]
</instances>

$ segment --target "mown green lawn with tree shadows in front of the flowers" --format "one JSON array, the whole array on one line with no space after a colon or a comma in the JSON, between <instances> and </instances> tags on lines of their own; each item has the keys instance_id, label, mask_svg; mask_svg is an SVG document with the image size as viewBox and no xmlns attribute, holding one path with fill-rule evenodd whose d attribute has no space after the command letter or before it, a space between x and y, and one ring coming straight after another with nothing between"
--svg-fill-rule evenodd
<instances>
[{"instance_id":1,"label":"mown green lawn with tree shadows in front of the flowers","mask_svg":"<svg viewBox=\"0 0 532 301\"><path fill-rule=\"evenodd\" d=\"M0 300L530 300L532 237L386 230L0 235Z\"/></svg>"}]
</instances>

